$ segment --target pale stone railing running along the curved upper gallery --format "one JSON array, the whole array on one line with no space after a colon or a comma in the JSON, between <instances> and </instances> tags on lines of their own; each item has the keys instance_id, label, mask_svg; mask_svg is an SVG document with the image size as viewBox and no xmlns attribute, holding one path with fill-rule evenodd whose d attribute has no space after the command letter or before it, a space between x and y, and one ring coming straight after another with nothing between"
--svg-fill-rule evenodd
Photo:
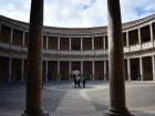
<instances>
[{"instance_id":1,"label":"pale stone railing running along the curved upper gallery","mask_svg":"<svg viewBox=\"0 0 155 116\"><path fill-rule=\"evenodd\" d=\"M135 51L141 51L145 49L152 49L154 48L155 41L152 42L144 42L142 44L135 44L135 45L130 45L124 48L124 53L130 53L130 52L135 52ZM11 50L11 51L17 51L20 53L27 53L28 48L24 46L17 46L17 45L11 45L8 43L0 43L0 49L3 50ZM87 56L97 56L97 55L107 55L107 50L83 50L83 51L58 51L58 50L43 50L44 54L48 55L65 55L65 56L82 56L82 55L87 55Z\"/></svg>"}]
</instances>

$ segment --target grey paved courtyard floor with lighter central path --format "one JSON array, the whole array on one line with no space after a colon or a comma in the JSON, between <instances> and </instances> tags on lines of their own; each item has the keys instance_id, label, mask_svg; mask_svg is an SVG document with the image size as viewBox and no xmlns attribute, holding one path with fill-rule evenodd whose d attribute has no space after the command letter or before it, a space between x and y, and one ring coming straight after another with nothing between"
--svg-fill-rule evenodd
<instances>
[{"instance_id":1,"label":"grey paved courtyard floor with lighter central path","mask_svg":"<svg viewBox=\"0 0 155 116\"><path fill-rule=\"evenodd\" d=\"M45 83L42 106L50 116L104 116L108 107L108 83L87 82L74 88L71 82ZM0 86L0 116L21 116L25 85ZM155 116L155 82L126 82L126 106L135 116Z\"/></svg>"}]
</instances>

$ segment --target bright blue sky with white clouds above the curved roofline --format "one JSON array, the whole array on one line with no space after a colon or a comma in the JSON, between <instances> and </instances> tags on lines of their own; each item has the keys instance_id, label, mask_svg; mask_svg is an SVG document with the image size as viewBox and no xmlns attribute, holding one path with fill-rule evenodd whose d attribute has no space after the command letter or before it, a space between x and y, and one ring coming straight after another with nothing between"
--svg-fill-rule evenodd
<instances>
[{"instance_id":1,"label":"bright blue sky with white clouds above the curved roofline","mask_svg":"<svg viewBox=\"0 0 155 116\"><path fill-rule=\"evenodd\" d=\"M0 0L0 14L29 22L31 0ZM122 21L155 14L155 0L121 0ZM107 0L44 0L44 25L91 28L107 25Z\"/></svg>"}]
</instances>

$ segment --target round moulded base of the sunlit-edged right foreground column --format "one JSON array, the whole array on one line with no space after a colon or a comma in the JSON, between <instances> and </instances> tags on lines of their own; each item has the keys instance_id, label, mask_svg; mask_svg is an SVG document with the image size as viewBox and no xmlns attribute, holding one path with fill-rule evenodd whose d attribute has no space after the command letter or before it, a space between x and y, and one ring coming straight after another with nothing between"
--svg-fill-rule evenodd
<instances>
[{"instance_id":1,"label":"round moulded base of the sunlit-edged right foreground column","mask_svg":"<svg viewBox=\"0 0 155 116\"><path fill-rule=\"evenodd\" d=\"M105 116L134 116L134 115L132 115L127 109L121 110L110 108L105 112Z\"/></svg>"}]
</instances>

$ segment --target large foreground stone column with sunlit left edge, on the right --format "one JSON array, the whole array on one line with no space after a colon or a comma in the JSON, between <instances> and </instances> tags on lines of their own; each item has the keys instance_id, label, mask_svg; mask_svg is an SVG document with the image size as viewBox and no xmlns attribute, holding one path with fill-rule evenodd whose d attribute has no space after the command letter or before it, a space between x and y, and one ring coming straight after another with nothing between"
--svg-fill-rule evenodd
<instances>
[{"instance_id":1,"label":"large foreground stone column with sunlit left edge, on the right","mask_svg":"<svg viewBox=\"0 0 155 116\"><path fill-rule=\"evenodd\" d=\"M107 116L131 116L125 105L124 54L120 0L107 0L110 107Z\"/></svg>"}]
</instances>

